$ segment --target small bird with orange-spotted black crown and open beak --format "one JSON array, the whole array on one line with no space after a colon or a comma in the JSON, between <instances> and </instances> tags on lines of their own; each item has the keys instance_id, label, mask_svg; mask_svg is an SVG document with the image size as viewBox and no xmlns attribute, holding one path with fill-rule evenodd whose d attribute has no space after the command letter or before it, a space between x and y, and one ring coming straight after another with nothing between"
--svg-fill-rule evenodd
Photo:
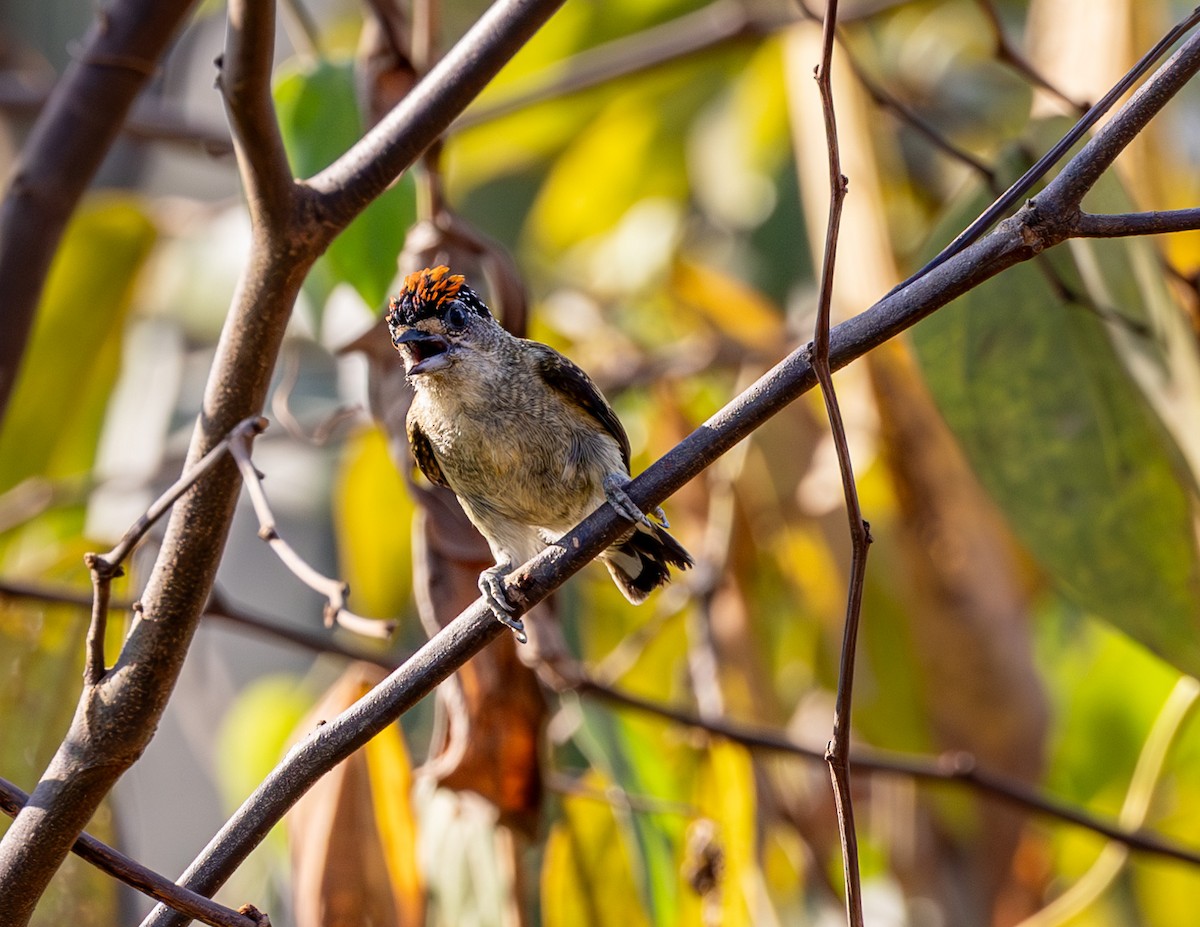
<instances>
[{"instance_id":1,"label":"small bird with orange-spotted black crown and open beak","mask_svg":"<svg viewBox=\"0 0 1200 927\"><path fill-rule=\"evenodd\" d=\"M479 588L524 640L503 578L608 503L632 524L600 558L640 604L692 558L662 509L629 497L629 437L595 383L552 347L505 331L462 275L409 274L388 309L391 342L413 385L408 442L418 467L458 497L496 566Z\"/></svg>"}]
</instances>

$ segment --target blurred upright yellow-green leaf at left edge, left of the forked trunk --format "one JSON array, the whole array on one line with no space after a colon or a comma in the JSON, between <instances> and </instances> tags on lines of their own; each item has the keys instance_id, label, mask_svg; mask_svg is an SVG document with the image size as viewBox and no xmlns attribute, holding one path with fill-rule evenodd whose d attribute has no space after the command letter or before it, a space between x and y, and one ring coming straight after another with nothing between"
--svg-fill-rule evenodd
<instances>
[{"instance_id":1,"label":"blurred upright yellow-green leaf at left edge, left of the forked trunk","mask_svg":"<svg viewBox=\"0 0 1200 927\"><path fill-rule=\"evenodd\" d=\"M91 468L133 283L154 241L128 198L92 199L67 226L0 430L0 492Z\"/></svg>"}]
</instances>

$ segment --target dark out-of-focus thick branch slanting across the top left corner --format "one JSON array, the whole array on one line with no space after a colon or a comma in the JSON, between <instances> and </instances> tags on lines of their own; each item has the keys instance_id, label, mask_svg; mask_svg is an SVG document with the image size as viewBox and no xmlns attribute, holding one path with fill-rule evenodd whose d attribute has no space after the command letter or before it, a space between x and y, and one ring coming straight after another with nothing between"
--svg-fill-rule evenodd
<instances>
[{"instance_id":1,"label":"dark out-of-focus thick branch slanting across the top left corner","mask_svg":"<svg viewBox=\"0 0 1200 927\"><path fill-rule=\"evenodd\" d=\"M67 219L192 6L124 0L97 11L82 53L22 149L0 205L0 420Z\"/></svg>"}]
</instances>

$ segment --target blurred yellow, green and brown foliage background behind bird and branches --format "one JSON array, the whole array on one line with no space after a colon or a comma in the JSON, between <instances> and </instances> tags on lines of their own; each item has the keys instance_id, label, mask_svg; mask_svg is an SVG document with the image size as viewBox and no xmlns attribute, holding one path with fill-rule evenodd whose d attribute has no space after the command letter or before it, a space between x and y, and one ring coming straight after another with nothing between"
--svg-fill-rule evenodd
<instances>
[{"instance_id":1,"label":"blurred yellow, green and brown foliage background behind bird and branches","mask_svg":"<svg viewBox=\"0 0 1200 927\"><path fill-rule=\"evenodd\" d=\"M438 7L420 8L445 48L485 4ZM936 253L1189 10L844 2L838 318ZM7 172L92 14L61 0L0 11ZM366 5L281 5L275 97L298 175L362 133L397 92L389 79L403 89L402 68L372 70L377 32ZM247 253L212 88L223 34L223 5L200 5L136 107L56 257L0 430L0 775L26 790L79 693L88 608L65 599L90 597L83 554L178 476ZM461 256L509 321L523 287L529 336L601 384L635 473L811 337L828 204L818 53L820 25L782 0L568 0L335 243L296 305L254 462L282 536L397 630L326 630L320 597L246 506L168 713L94 833L174 878L290 738L425 639L413 563L432 556L437 516L390 453L403 399L386 349L364 349L414 269L402 251ZM1186 89L1085 207L1195 204L1198 102ZM839 373L875 538L856 744L961 750L1200 851L1198 269L1194 233L1070 243ZM218 897L276 925L842 922L823 764L612 698L823 750L850 543L820 396L666 509L692 573L635 610L593 567L541 617L594 692L539 687L500 641L460 686L466 729L461 712L446 720L454 698L419 706ZM127 600L154 556L151 537ZM122 630L112 622L110 654ZM455 755L464 738L482 759ZM978 789L863 772L856 794L871 925L1176 925L1200 890L1194 863ZM38 922L146 909L72 861Z\"/></svg>"}]
</instances>

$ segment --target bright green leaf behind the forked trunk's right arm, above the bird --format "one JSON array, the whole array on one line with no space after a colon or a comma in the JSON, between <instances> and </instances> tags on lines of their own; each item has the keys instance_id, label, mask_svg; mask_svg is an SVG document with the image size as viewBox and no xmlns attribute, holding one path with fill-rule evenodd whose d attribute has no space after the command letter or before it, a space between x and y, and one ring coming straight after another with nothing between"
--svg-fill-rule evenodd
<instances>
[{"instance_id":1,"label":"bright green leaf behind the forked trunk's right arm, above the bird","mask_svg":"<svg viewBox=\"0 0 1200 927\"><path fill-rule=\"evenodd\" d=\"M283 144L299 177L328 167L362 136L349 62L326 60L293 71L275 85ZM340 234L322 257L310 286L317 303L349 283L372 307L382 307L396 276L396 255L416 216L416 198L404 174Z\"/></svg>"}]
</instances>

